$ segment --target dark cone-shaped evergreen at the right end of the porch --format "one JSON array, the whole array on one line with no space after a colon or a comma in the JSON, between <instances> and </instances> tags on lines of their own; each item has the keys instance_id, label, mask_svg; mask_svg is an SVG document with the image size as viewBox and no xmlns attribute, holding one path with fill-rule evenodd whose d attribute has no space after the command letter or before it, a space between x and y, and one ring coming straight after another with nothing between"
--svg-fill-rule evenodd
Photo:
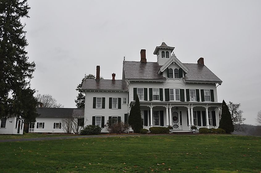
<instances>
[{"instance_id":1,"label":"dark cone-shaped evergreen at the right end of the porch","mask_svg":"<svg viewBox=\"0 0 261 173\"><path fill-rule=\"evenodd\" d=\"M234 131L231 114L224 100L222 102L221 120L218 128L224 129L228 134Z\"/></svg>"}]
</instances>

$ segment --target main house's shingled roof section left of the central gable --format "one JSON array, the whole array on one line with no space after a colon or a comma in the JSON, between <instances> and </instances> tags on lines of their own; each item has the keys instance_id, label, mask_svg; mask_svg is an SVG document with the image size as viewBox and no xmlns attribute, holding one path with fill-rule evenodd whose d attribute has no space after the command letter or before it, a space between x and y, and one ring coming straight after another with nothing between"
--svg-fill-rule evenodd
<instances>
[{"instance_id":1,"label":"main house's shingled roof section left of the central gable","mask_svg":"<svg viewBox=\"0 0 261 173\"><path fill-rule=\"evenodd\" d=\"M125 61L123 69L125 79L165 79L161 74L158 74L162 66L157 62L141 63L138 61Z\"/></svg>"}]
</instances>

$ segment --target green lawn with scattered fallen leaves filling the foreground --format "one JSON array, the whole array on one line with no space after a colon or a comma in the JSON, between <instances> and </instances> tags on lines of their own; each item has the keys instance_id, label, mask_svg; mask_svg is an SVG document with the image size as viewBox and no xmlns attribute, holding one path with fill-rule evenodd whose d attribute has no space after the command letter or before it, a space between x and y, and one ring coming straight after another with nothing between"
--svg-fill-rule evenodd
<instances>
[{"instance_id":1,"label":"green lawn with scattered fallen leaves filling the foreground","mask_svg":"<svg viewBox=\"0 0 261 173\"><path fill-rule=\"evenodd\" d=\"M0 172L261 171L261 138L165 135L0 143Z\"/></svg>"}]
</instances>

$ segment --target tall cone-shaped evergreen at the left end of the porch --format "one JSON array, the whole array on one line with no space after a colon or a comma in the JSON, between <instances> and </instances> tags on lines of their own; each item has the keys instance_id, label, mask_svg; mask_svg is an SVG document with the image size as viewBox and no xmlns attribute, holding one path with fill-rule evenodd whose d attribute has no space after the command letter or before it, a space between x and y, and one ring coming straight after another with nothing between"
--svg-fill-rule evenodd
<instances>
[{"instance_id":1,"label":"tall cone-shaped evergreen at the left end of the porch","mask_svg":"<svg viewBox=\"0 0 261 173\"><path fill-rule=\"evenodd\" d=\"M131 108L129 119L129 125L132 127L134 133L139 133L143 128L141 119L141 108L139 97L136 97L135 105Z\"/></svg>"}]
</instances>

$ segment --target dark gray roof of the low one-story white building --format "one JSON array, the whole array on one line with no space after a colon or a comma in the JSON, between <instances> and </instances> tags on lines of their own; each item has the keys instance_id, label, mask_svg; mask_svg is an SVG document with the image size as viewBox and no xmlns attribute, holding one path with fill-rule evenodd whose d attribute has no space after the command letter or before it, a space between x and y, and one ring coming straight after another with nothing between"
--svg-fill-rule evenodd
<instances>
[{"instance_id":1,"label":"dark gray roof of the low one-story white building","mask_svg":"<svg viewBox=\"0 0 261 173\"><path fill-rule=\"evenodd\" d=\"M74 111L84 117L84 109L80 108L36 108L39 117L71 117Z\"/></svg>"}]
</instances>

